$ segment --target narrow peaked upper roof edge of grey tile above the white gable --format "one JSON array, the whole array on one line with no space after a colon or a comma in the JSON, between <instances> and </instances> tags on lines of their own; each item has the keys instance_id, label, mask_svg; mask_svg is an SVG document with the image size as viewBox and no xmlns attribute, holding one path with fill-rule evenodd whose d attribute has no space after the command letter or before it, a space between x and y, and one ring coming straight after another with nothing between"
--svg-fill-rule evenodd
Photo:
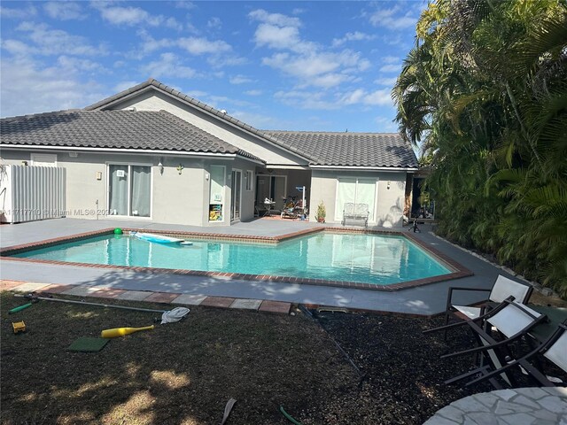
<instances>
[{"instance_id":1,"label":"narrow peaked upper roof edge of grey tile above the white gable","mask_svg":"<svg viewBox=\"0 0 567 425\"><path fill-rule=\"evenodd\" d=\"M172 97L176 97L180 100L182 100L183 102L190 104L192 106L197 107L198 109L205 111L211 115L216 116L217 118L227 121L230 124L236 126L237 128L241 128L249 133L252 133L252 135L257 135L260 138L268 141L269 143L273 143L276 145L279 145L280 147L282 147L283 149L286 149L288 151L291 151L293 153L295 153L296 155L299 155L299 157L301 158L306 158L307 160L313 159L313 158L309 158L307 156L307 154L303 151L299 151L298 149L295 148L295 146L288 146L288 145L283 145L279 140L277 140L276 138L272 137L271 135L268 135L267 133L265 133L262 130L259 130L258 128L253 128L252 126L246 124L245 122L241 121L241 120L237 120L236 118L230 116L228 113L224 112L224 111L220 111L218 109L215 109L213 106L210 106L208 104L204 104L203 102L199 101L198 99L195 99L194 97L190 97L185 95L184 93L182 93L179 90L173 89L169 86L167 86L166 84L163 84L162 82L159 82L153 78L150 78L134 87L131 87L129 89L120 91L120 93L117 93L111 97L106 97L105 99L97 102L96 104L90 104L89 106L85 107L84 109L86 111L95 111L95 110L105 110L107 107L112 106L112 104L114 102L120 101L120 99L128 97L129 95L132 95L138 91L144 90L146 88L149 87L153 87L156 89L160 89L164 92L166 92L167 94L171 95Z\"/></svg>"}]
</instances>

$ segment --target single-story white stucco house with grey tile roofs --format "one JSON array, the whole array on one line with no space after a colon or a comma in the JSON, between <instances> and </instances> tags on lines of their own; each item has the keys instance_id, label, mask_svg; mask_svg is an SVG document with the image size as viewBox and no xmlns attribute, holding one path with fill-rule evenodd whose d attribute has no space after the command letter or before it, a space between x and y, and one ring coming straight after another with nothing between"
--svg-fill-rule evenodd
<instances>
[{"instance_id":1,"label":"single-story white stucco house with grey tile roofs","mask_svg":"<svg viewBox=\"0 0 567 425\"><path fill-rule=\"evenodd\" d=\"M82 110L4 118L0 137L4 165L66 169L67 217L229 226L305 187L310 220L323 203L339 223L350 202L396 227L417 171L398 134L260 130L153 79Z\"/></svg>"}]
</instances>

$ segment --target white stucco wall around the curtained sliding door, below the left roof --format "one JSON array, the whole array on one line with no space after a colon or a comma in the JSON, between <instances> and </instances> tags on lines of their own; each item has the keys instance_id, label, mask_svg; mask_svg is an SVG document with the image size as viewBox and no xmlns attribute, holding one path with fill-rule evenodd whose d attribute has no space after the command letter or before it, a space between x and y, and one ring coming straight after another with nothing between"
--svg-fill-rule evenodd
<instances>
[{"instance_id":1,"label":"white stucco wall around the curtained sliding door, below the left roof","mask_svg":"<svg viewBox=\"0 0 567 425\"><path fill-rule=\"evenodd\" d=\"M41 151L18 151L3 149L2 158L5 164L21 165L27 161L31 165L32 153L48 153ZM69 151L49 151L57 154L57 166L66 168L66 216L97 220L102 218L123 220L107 214L108 205L108 163L137 164L151 166L151 217L128 217L128 220L157 221L167 224L184 224L193 226L229 226L229 215L222 222L210 223L209 181L210 165L226 166L226 175L230 175L232 167L243 170L242 220L253 217L253 190L245 191L244 172L254 170L254 164L244 159L212 159L158 157L155 155L133 155L118 153L83 153L76 158L69 156ZM161 161L163 173L158 166ZM183 165L181 174L177 166ZM100 174L100 180L97 179ZM225 206L230 208L230 182L225 180Z\"/></svg>"}]
</instances>

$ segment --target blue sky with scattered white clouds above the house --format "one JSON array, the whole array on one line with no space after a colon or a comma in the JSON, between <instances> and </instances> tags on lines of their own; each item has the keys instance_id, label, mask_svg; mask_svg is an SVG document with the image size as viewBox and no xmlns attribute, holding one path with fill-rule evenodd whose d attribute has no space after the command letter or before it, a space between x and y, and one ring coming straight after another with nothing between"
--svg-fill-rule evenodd
<instances>
[{"instance_id":1,"label":"blue sky with scattered white clouds above the house","mask_svg":"<svg viewBox=\"0 0 567 425\"><path fill-rule=\"evenodd\" d=\"M3 1L0 113L82 108L153 77L255 128L392 132L425 6Z\"/></svg>"}]
</instances>

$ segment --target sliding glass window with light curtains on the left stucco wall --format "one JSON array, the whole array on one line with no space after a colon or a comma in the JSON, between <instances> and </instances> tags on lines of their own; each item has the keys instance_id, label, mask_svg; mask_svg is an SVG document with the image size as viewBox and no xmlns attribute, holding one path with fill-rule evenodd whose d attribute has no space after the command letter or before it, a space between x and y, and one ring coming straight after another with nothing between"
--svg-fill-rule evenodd
<instances>
[{"instance_id":1,"label":"sliding glass window with light curtains on the left stucco wall","mask_svg":"<svg viewBox=\"0 0 567 425\"><path fill-rule=\"evenodd\" d=\"M151 166L109 164L108 210L110 215L150 217Z\"/></svg>"}]
</instances>

